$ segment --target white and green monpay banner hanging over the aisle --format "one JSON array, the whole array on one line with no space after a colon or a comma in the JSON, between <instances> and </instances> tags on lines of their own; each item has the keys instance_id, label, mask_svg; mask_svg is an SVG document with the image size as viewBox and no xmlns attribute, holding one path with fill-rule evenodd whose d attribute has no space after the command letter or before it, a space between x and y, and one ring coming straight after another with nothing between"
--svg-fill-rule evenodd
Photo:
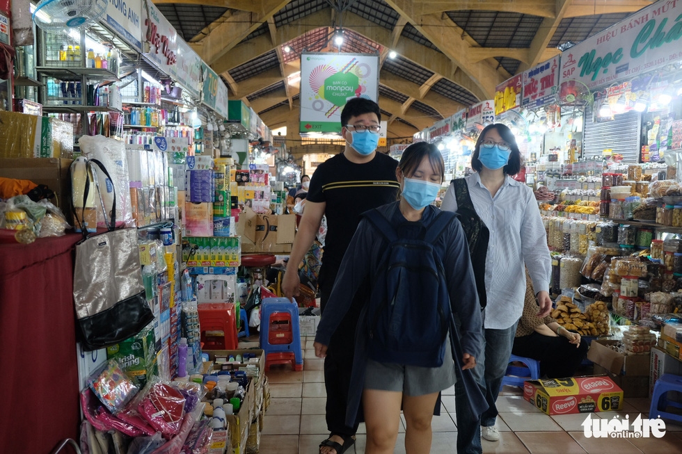
<instances>
[{"instance_id":1,"label":"white and green monpay banner hanging over the aisle","mask_svg":"<svg viewBox=\"0 0 682 454\"><path fill-rule=\"evenodd\" d=\"M301 55L301 133L340 133L341 111L354 97L379 99L379 56Z\"/></svg>"}]
</instances>

